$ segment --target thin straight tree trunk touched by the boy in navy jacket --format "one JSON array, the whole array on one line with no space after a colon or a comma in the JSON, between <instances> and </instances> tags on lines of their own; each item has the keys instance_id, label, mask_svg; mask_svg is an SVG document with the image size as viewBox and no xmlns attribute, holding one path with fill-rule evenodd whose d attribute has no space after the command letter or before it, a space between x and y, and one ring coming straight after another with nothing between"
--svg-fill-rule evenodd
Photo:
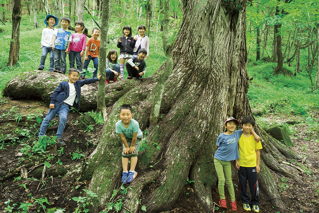
<instances>
[{"instance_id":1,"label":"thin straight tree trunk touched by the boy in navy jacket","mask_svg":"<svg viewBox=\"0 0 319 213\"><path fill-rule=\"evenodd\" d=\"M106 57L108 55L108 21L109 21L109 0L104 0L105 4L103 5L102 9L102 18L101 18L101 36L100 36L100 58L104 60L100 60L100 72L101 79L99 80L99 87L98 87L98 106L97 112L101 112L103 115L104 120L108 118L106 113L106 105L105 105L105 79L106 79Z\"/></svg>"}]
</instances>

